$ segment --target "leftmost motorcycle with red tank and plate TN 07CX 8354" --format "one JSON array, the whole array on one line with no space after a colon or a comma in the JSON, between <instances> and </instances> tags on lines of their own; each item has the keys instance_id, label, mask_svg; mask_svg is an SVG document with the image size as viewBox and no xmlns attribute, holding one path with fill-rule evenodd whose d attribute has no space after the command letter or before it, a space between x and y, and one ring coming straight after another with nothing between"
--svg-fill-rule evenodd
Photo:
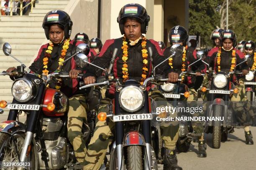
<instances>
[{"instance_id":1,"label":"leftmost motorcycle with red tank and plate TN 07CX 8354","mask_svg":"<svg viewBox=\"0 0 256 170\"><path fill-rule=\"evenodd\" d=\"M80 44L74 55L85 53L88 49L86 44ZM5 43L3 51L13 57L10 44ZM21 63L17 71L0 73L11 75L14 79L13 102L0 101L0 107L10 109L7 121L0 123L0 167L59 170L70 165L74 168L72 165L76 163L76 158L67 138L69 99L63 92L47 87L54 78L69 78L69 73L60 70L40 78L28 73L23 62L13 58ZM22 111L26 114L25 123L16 120ZM89 112L91 119L82 127L85 141L93 135L93 112L96 111ZM77 165L77 168L83 167Z\"/></svg>"}]
</instances>

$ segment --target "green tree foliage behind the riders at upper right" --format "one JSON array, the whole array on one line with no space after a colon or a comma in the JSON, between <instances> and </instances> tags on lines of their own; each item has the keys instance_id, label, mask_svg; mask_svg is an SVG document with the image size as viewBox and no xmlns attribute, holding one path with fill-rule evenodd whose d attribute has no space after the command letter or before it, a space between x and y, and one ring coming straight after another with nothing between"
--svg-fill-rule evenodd
<instances>
[{"instance_id":1,"label":"green tree foliage behind the riders at upper right","mask_svg":"<svg viewBox=\"0 0 256 170\"><path fill-rule=\"evenodd\" d=\"M200 35L202 44L211 45L210 34L226 29L227 0L189 0L189 35ZM228 0L228 28L238 40L256 38L256 0Z\"/></svg>"}]
</instances>

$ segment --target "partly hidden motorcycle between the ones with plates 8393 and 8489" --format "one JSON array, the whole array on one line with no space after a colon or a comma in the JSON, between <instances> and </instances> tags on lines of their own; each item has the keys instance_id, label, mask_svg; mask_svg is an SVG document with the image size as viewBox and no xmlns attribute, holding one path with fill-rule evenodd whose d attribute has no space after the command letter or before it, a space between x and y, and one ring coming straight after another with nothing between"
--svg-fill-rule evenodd
<instances>
[{"instance_id":1,"label":"partly hidden motorcycle between the ones with plates 8393 and 8489","mask_svg":"<svg viewBox=\"0 0 256 170\"><path fill-rule=\"evenodd\" d=\"M204 56L203 51L197 51L197 61L190 64L187 71L181 72L179 75L178 82L164 83L164 85L159 86L159 90L163 93L164 97L169 101L173 107L186 108L188 107L187 97L189 97L189 87L182 83L182 77L195 75L194 72L189 71L189 67L194 65L196 62L202 60ZM206 63L207 64L207 63ZM202 74L204 76L204 74ZM178 117L189 117L188 112L178 112ZM193 133L193 127L191 121L179 121L179 138L177 140L176 148L179 152L187 152L190 147L190 143L194 137L199 137L202 134Z\"/></svg>"}]
</instances>

